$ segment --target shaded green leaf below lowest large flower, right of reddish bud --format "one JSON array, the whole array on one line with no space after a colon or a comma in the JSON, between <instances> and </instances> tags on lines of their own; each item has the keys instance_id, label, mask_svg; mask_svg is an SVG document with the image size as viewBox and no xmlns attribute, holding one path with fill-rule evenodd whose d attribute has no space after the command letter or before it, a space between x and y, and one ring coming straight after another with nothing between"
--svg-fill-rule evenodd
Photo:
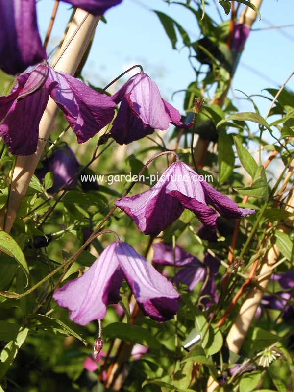
<instances>
[{"instance_id":1,"label":"shaded green leaf below lowest large flower, right of reddish bud","mask_svg":"<svg viewBox=\"0 0 294 392\"><path fill-rule=\"evenodd\" d=\"M118 338L126 342L140 343L148 347L159 348L160 342L151 333L139 325L113 322L103 328L103 335L113 339Z\"/></svg>"}]
</instances>

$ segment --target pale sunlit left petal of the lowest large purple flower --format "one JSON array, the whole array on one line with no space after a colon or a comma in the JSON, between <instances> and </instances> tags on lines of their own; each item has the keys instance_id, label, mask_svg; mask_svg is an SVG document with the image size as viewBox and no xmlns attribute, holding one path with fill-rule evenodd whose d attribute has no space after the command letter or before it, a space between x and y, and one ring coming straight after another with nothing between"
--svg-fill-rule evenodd
<instances>
[{"instance_id":1,"label":"pale sunlit left petal of the lowest large purple flower","mask_svg":"<svg viewBox=\"0 0 294 392\"><path fill-rule=\"evenodd\" d=\"M113 275L117 273L118 260L115 255L117 243L108 245L94 264L82 276L55 290L53 299L58 305L70 310L70 319L86 325L106 314L106 300L113 286Z\"/></svg>"}]
</instances>

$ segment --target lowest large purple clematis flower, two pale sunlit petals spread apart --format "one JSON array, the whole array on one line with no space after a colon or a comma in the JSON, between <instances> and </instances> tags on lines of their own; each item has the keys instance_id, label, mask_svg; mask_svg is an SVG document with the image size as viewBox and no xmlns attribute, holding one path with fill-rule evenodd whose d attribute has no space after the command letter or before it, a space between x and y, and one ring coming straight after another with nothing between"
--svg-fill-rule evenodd
<instances>
[{"instance_id":1,"label":"lowest large purple clematis flower, two pale sunlit petals spread apart","mask_svg":"<svg viewBox=\"0 0 294 392\"><path fill-rule=\"evenodd\" d=\"M130 245L108 245L82 276L54 292L54 300L70 310L70 319L86 325L106 314L106 305L118 303L123 278L144 314L157 321L171 319L178 310L178 292Z\"/></svg>"}]
</instances>

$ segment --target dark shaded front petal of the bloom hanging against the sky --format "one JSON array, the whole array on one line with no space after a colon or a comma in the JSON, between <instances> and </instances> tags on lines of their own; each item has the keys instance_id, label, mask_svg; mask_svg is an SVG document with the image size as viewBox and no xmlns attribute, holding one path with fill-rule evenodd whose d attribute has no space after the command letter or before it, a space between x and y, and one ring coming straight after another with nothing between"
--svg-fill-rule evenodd
<instances>
[{"instance_id":1,"label":"dark shaded front petal of the bloom hanging against the sky","mask_svg":"<svg viewBox=\"0 0 294 392\"><path fill-rule=\"evenodd\" d=\"M130 109L125 98L122 99L118 114L112 123L111 136L119 144L128 144L150 135L154 129L146 125Z\"/></svg>"}]
</instances>

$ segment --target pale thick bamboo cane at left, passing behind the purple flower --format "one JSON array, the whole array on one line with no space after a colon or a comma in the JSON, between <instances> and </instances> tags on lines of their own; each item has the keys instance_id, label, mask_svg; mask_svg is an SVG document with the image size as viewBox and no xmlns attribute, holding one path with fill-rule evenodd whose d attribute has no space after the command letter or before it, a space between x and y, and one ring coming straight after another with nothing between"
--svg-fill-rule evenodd
<instances>
[{"instance_id":1,"label":"pale thick bamboo cane at left, passing behind the purple flower","mask_svg":"<svg viewBox=\"0 0 294 392\"><path fill-rule=\"evenodd\" d=\"M100 16L93 16L81 9L76 9L63 44L52 61L55 70L70 75L75 73L99 19ZM29 156L18 156L16 159L8 199L6 222L4 222L4 211L0 211L0 228L6 232L9 232L13 225L18 208L46 145L46 141L43 139L48 139L57 113L58 106L49 98L39 126L39 141L36 152Z\"/></svg>"}]
</instances>

